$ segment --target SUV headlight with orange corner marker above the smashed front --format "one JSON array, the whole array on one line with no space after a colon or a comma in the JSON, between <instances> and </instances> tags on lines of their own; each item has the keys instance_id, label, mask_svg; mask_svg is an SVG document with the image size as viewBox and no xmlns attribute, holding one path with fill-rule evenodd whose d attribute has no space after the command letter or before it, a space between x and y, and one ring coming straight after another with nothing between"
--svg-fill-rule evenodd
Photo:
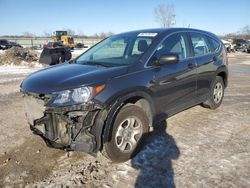
<instances>
[{"instance_id":1,"label":"SUV headlight with orange corner marker above the smashed front","mask_svg":"<svg viewBox=\"0 0 250 188\"><path fill-rule=\"evenodd\" d=\"M55 92L56 95L52 105L54 106L67 106L88 102L105 87L105 84L97 87L80 87L72 90L64 90Z\"/></svg>"}]
</instances>

